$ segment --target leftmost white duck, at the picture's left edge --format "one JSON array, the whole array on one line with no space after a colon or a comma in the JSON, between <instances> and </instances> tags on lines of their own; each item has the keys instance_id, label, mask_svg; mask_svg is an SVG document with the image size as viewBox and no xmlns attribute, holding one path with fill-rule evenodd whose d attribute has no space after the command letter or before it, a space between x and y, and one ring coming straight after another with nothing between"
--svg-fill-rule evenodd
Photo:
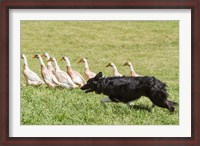
<instances>
[{"instance_id":1,"label":"leftmost white duck, at the picture's left edge","mask_svg":"<svg viewBox=\"0 0 200 146\"><path fill-rule=\"evenodd\" d=\"M44 84L44 82L39 78L39 76L35 72L30 70L30 68L28 67L28 62L27 62L26 56L24 54L22 54L21 58L24 60L23 73L24 73L24 77L26 79L26 85L37 86L37 85Z\"/></svg>"}]
</instances>

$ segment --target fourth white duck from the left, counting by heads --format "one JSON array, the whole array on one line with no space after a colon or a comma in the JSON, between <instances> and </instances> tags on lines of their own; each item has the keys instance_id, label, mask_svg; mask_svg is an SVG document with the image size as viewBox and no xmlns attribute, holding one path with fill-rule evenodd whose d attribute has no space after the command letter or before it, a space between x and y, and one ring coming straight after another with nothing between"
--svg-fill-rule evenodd
<instances>
[{"instance_id":1,"label":"fourth white duck from the left, counting by heads","mask_svg":"<svg viewBox=\"0 0 200 146\"><path fill-rule=\"evenodd\" d=\"M76 88L78 87L74 82L71 80L70 76L62 71L60 67L58 66L58 63L54 57L50 57L48 60L52 61L55 64L55 76L58 79L58 81L62 84L63 87L65 88Z\"/></svg>"}]
</instances>

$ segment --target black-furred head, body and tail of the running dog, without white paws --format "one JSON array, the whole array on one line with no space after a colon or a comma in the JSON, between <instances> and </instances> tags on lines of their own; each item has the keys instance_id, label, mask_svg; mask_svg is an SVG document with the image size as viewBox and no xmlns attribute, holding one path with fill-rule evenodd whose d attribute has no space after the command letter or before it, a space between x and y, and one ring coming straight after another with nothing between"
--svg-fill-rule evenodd
<instances>
[{"instance_id":1,"label":"black-furred head, body and tail of the running dog, without white paws","mask_svg":"<svg viewBox=\"0 0 200 146\"><path fill-rule=\"evenodd\" d=\"M148 97L154 105L174 111L174 102L167 100L166 84L155 77L103 77L100 72L81 87L85 93L107 95L113 102L129 103L141 96Z\"/></svg>"}]
</instances>

